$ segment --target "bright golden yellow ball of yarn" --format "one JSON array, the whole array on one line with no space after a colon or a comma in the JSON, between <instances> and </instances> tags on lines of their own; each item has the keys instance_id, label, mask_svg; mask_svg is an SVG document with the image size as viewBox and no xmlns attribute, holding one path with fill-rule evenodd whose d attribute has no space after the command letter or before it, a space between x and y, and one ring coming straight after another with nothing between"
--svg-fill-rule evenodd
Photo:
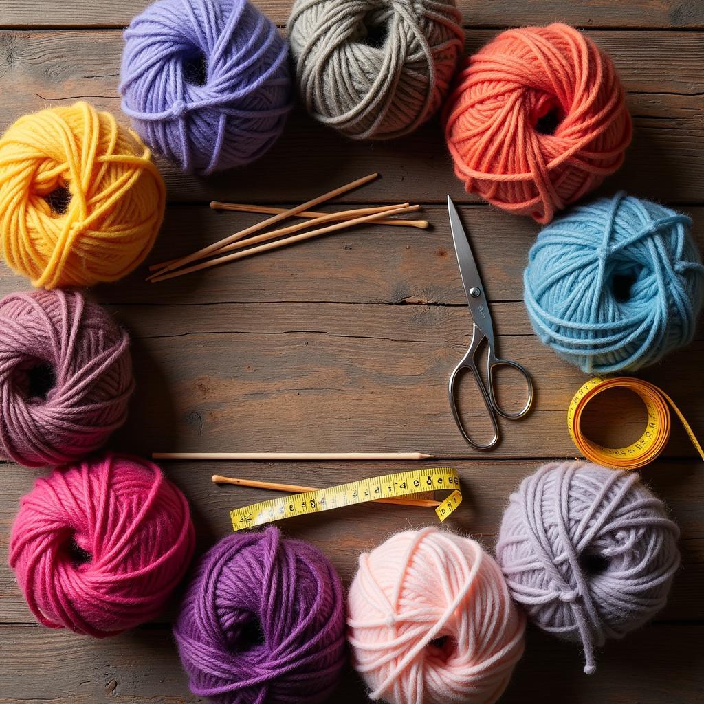
<instances>
[{"instance_id":1,"label":"bright golden yellow ball of yarn","mask_svg":"<svg viewBox=\"0 0 704 704\"><path fill-rule=\"evenodd\" d=\"M25 115L0 139L0 246L36 287L116 281L151 250L164 182L137 135L87 103Z\"/></svg>"}]
</instances>

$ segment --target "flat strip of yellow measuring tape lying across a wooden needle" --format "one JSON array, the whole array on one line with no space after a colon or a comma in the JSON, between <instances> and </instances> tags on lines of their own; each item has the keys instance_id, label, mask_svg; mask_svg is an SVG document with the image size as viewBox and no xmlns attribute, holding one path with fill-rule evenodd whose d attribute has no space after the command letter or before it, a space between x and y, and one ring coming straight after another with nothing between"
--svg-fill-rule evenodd
<instances>
[{"instance_id":1,"label":"flat strip of yellow measuring tape lying across a wooden needle","mask_svg":"<svg viewBox=\"0 0 704 704\"><path fill-rule=\"evenodd\" d=\"M358 482L329 486L305 494L291 494L269 501L253 503L251 506L230 511L232 528L235 532L308 513L320 513L356 503L376 501L378 498L401 498L413 496L422 491L451 491L435 508L437 517L444 521L462 502L460 479L450 467L433 467L429 470L396 472L383 477L360 479Z\"/></svg>"}]
</instances>

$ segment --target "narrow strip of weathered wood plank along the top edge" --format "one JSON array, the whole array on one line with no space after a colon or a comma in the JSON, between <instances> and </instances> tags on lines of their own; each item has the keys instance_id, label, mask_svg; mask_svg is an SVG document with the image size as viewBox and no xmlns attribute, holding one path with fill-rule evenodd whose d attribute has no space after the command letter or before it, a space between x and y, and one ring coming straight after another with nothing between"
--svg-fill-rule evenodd
<instances>
[{"instance_id":1,"label":"narrow strip of weathered wood plank along the top edge","mask_svg":"<svg viewBox=\"0 0 704 704\"><path fill-rule=\"evenodd\" d=\"M62 0L51 11L31 0L4 0L0 26L116 26L126 25L148 0ZM285 24L291 0L256 0L279 25ZM580 27L703 27L704 8L698 0L458 0L466 26L511 27L562 21Z\"/></svg>"}]
</instances>

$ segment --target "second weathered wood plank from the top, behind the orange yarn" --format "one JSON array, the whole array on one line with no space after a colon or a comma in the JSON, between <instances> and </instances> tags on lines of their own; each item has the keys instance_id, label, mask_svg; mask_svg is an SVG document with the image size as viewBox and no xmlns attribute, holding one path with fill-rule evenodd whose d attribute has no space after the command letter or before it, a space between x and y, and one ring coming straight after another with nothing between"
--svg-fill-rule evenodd
<instances>
[{"instance_id":1,"label":"second weathered wood plank from the top, behind the orange yarn","mask_svg":"<svg viewBox=\"0 0 704 704\"><path fill-rule=\"evenodd\" d=\"M470 30L467 50L476 50L494 33ZM624 168L602 191L625 188L660 201L704 201L704 33L615 31L591 36L612 54L622 74L636 126ZM118 111L121 50L116 30L2 32L0 93L13 97L0 115L0 128L23 113L80 98ZM374 196L368 196L375 201L441 202L446 193L463 197L438 120L407 139L360 144L296 111L272 151L246 169L194 179L163 166L173 201L300 202L325 191L331 182L344 183L374 170L385 176Z\"/></svg>"}]
</instances>

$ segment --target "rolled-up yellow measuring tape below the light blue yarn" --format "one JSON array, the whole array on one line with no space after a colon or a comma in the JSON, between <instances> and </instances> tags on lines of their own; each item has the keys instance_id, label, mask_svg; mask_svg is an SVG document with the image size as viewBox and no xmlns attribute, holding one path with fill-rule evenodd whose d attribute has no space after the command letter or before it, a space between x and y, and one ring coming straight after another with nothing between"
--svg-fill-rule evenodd
<instances>
[{"instance_id":1,"label":"rolled-up yellow measuring tape below the light blue yarn","mask_svg":"<svg viewBox=\"0 0 704 704\"><path fill-rule=\"evenodd\" d=\"M608 389L630 389L640 396L648 412L646 429L641 437L628 447L611 448L598 445L582 434L582 413L589 401L594 396L601 394ZM594 377L584 384L577 394L574 394L570 408L567 409L567 428L570 430L572 441L577 449L588 460L605 467L622 470L637 470L655 460L665 449L668 439L670 439L670 404L672 410L677 413L684 429L689 435L693 446L704 460L704 451L699 441L686 421L684 415L670 396L665 391L634 377Z\"/></svg>"}]
</instances>

